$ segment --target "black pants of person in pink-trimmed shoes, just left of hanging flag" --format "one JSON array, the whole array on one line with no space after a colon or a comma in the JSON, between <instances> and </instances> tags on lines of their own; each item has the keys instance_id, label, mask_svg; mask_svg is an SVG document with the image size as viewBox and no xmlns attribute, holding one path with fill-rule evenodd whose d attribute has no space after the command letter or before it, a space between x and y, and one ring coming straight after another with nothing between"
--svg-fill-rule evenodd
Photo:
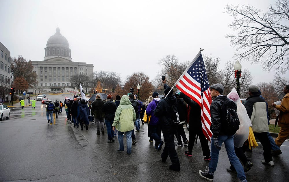
<instances>
[{"instance_id":1,"label":"black pants of person in pink-trimmed shoes, just left of hanging flag","mask_svg":"<svg viewBox=\"0 0 289 182\"><path fill-rule=\"evenodd\" d=\"M195 141L196 135L198 135L200 142L201 142L201 146L202 146L203 156L210 156L211 155L211 151L210 151L210 148L208 145L208 140L203 133L202 126L190 125L189 126L189 135L190 135L189 136L189 142L188 142L189 153L192 153L192 150L194 147L194 141Z\"/></svg>"}]
</instances>

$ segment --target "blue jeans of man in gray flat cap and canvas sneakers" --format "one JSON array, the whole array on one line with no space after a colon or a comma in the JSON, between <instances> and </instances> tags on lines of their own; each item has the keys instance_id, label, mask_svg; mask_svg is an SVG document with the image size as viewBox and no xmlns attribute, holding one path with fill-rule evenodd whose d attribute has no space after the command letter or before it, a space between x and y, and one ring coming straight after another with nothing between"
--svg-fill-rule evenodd
<instances>
[{"instance_id":1,"label":"blue jeans of man in gray flat cap and canvas sneakers","mask_svg":"<svg viewBox=\"0 0 289 182\"><path fill-rule=\"evenodd\" d=\"M218 159L219 159L219 152L220 150L217 149L214 146L214 140L212 137L211 140L211 161L209 163L209 173L210 174L214 174L214 172L216 171L217 168L217 164L218 164ZM227 151L227 155L229 158L229 161L231 162L231 164L234 166L234 168L237 171L237 177L242 181L246 179L245 176L245 172L243 169L242 164L240 163L238 157L235 154L235 149L234 149L234 135L231 136L218 136L218 142L219 145L222 146L222 143L225 144L225 148Z\"/></svg>"}]
</instances>

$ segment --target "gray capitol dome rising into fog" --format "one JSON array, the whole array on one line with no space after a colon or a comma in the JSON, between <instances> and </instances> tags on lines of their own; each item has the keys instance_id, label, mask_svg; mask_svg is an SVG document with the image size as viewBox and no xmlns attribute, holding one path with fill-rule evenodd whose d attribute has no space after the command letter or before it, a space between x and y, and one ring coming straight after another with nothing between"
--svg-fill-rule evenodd
<instances>
[{"instance_id":1,"label":"gray capitol dome rising into fog","mask_svg":"<svg viewBox=\"0 0 289 182\"><path fill-rule=\"evenodd\" d=\"M45 49L44 60L49 60L55 57L62 57L71 61L71 49L67 39L60 34L59 27L56 28L56 32L47 40Z\"/></svg>"}]
</instances>

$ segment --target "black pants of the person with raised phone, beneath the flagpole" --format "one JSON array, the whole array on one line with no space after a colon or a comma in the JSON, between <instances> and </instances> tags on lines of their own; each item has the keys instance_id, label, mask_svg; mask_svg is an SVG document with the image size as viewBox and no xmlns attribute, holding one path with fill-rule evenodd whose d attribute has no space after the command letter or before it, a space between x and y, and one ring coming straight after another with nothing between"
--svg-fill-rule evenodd
<instances>
[{"instance_id":1,"label":"black pants of the person with raised phone, beneath the flagpole","mask_svg":"<svg viewBox=\"0 0 289 182\"><path fill-rule=\"evenodd\" d=\"M168 156L170 157L172 161L171 168L173 169L180 169L180 162L179 162L179 157L177 155L177 151L175 149L175 142L174 142L174 135L175 133L164 133L163 131L163 136L164 136L164 150L162 152L162 161L166 161Z\"/></svg>"}]
</instances>

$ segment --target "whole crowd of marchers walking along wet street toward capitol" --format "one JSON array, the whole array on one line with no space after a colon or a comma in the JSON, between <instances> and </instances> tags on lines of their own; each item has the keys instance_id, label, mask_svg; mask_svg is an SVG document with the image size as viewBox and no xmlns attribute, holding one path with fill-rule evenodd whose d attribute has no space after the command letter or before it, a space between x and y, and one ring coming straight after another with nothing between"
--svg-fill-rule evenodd
<instances>
[{"instance_id":1,"label":"whole crowd of marchers walking along wet street toward capitol","mask_svg":"<svg viewBox=\"0 0 289 182\"><path fill-rule=\"evenodd\" d=\"M249 97L244 105L241 103L238 93L233 89L227 96L223 95L224 86L220 83L210 86L210 94L213 99L210 106L212 132L211 146L203 133L201 121L201 107L198 103L190 99L186 94L173 94L171 87L164 83L164 98L159 98L157 92L153 92L148 98L148 105L144 105L137 99L137 95L129 94L112 100L112 95L108 95L106 101L97 94L95 101L88 106L86 100L78 101L77 96L72 100L45 101L47 105L47 121L52 123L52 113L62 113L62 107L66 106L66 115L74 127L81 130L86 127L88 130L89 122L95 122L97 135L105 133L104 124L108 133L108 143L114 142L117 135L119 148L117 151L124 151L123 137L126 136L126 153L131 154L131 145L136 144L134 134L140 131L140 121L148 124L149 142L155 141L155 149L162 150L162 162L166 162L169 157L172 164L171 170L180 171L180 163L176 146L188 145L188 150L184 154L191 157L193 152L194 140L199 137L205 161L210 161L206 170L199 170L201 177L213 181L214 172L218 164L218 156L222 144L224 143L227 156L231 166L228 172L237 173L240 181L247 181L245 172L249 171L253 163L246 157L245 151L257 146L255 137L263 146L264 160L261 162L274 166L272 156L280 155L280 146L289 136L289 85L284 87L284 98L279 105L272 103L279 113L279 126L281 127L278 137L274 140L269 131L268 125L268 103L261 95L257 86L249 86ZM187 105L186 105L186 104ZM91 113L90 113L91 107ZM90 118L94 117L94 120ZM175 119L175 115L179 116ZM50 116L50 118L49 118ZM177 120L177 121L176 121ZM187 139L183 124L188 120L189 138ZM162 134L162 135L161 135ZM163 139L162 139L163 137ZM177 144L174 142L177 139ZM240 159L240 160L239 160Z\"/></svg>"}]
</instances>

